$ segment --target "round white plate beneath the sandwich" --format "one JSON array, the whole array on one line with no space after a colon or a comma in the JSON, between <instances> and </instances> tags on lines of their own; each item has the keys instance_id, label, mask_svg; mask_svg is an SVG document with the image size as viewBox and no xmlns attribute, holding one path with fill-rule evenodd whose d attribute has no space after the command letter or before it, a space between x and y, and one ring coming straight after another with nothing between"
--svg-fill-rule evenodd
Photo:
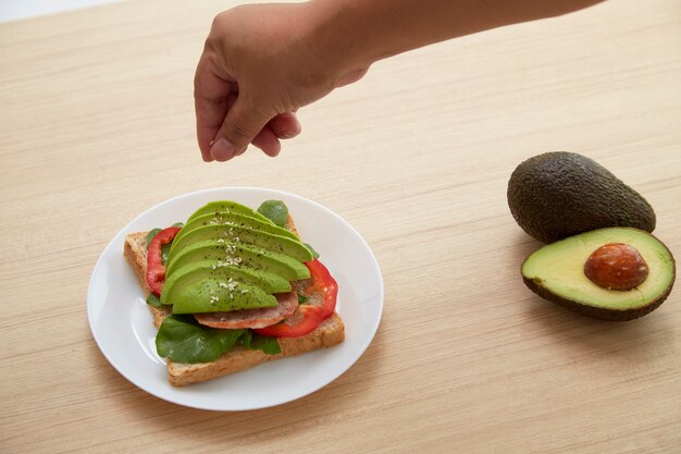
<instances>
[{"instance_id":1,"label":"round white plate beneath the sandwich","mask_svg":"<svg viewBox=\"0 0 681 454\"><path fill-rule=\"evenodd\" d=\"M123 257L125 235L185 221L212 200L257 208L284 200L304 242L338 282L336 310L345 341L332 348L265 363L250 370L185 388L168 382L165 360L156 353L156 329L135 274ZM106 247L92 271L87 315L97 345L123 377L169 402L212 410L244 410L308 395L345 372L371 343L383 311L383 279L376 259L350 224L323 206L280 191L225 187L185 194L135 218Z\"/></svg>"}]
</instances>

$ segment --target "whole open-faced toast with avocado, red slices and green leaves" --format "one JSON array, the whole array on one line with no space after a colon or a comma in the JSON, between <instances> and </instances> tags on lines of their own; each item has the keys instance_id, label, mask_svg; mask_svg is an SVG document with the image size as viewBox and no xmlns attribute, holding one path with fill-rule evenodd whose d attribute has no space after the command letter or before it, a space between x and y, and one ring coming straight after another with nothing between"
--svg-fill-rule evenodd
<instances>
[{"instance_id":1,"label":"whole open-faced toast with avocado, red slices and green leaves","mask_svg":"<svg viewBox=\"0 0 681 454\"><path fill-rule=\"evenodd\" d=\"M147 297L173 385L345 338L336 281L300 241L282 201L258 210L212 201L184 225L128 234L124 255Z\"/></svg>"}]
</instances>

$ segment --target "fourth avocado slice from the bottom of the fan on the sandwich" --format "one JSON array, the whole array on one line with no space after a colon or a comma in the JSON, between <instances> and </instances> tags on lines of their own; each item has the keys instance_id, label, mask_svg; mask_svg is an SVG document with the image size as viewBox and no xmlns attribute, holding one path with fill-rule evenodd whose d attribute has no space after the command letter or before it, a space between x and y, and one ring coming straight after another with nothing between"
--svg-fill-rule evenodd
<instances>
[{"instance_id":1,"label":"fourth avocado slice from the bottom of the fan on the sandwich","mask_svg":"<svg viewBox=\"0 0 681 454\"><path fill-rule=\"evenodd\" d=\"M280 228L277 228L280 229ZM182 231L181 231L182 233ZM246 243L263 249L283 253L300 261L312 260L312 253L300 241L274 233L258 231L237 225L202 225L191 230L188 234L175 238L168 256L172 260L185 247L202 240L222 238L230 243Z\"/></svg>"}]
</instances>

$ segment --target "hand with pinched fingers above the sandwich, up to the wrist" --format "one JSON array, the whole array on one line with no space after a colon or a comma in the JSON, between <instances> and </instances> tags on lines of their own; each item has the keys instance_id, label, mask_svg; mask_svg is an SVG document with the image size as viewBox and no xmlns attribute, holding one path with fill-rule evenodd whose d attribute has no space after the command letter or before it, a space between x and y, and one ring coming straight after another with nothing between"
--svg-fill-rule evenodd
<instances>
[{"instance_id":1,"label":"hand with pinched fingers above the sandwich, up to the wrist","mask_svg":"<svg viewBox=\"0 0 681 454\"><path fill-rule=\"evenodd\" d=\"M194 82L205 161L226 161L248 144L276 156L280 139L300 133L298 108L367 72L325 48L319 30L307 3L244 5L215 17Z\"/></svg>"}]
</instances>

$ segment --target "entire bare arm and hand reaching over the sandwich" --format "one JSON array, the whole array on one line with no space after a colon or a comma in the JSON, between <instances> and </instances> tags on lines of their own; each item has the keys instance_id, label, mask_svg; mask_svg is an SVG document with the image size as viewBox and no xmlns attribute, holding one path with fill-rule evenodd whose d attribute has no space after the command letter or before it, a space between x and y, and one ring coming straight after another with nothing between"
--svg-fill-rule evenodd
<instances>
[{"instance_id":1,"label":"entire bare arm and hand reaching over the sandwich","mask_svg":"<svg viewBox=\"0 0 681 454\"><path fill-rule=\"evenodd\" d=\"M381 59L598 0L310 0L221 13L195 76L199 148L224 161L269 156L300 132L295 111L356 82Z\"/></svg>"}]
</instances>

